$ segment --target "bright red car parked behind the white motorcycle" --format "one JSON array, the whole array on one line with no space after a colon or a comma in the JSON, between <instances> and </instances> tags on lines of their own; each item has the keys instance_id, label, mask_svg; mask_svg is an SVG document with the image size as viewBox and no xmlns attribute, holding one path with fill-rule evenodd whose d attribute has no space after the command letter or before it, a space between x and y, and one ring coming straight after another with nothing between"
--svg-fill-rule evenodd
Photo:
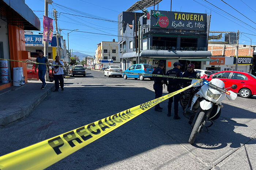
<instances>
[{"instance_id":1,"label":"bright red car parked behind the white motorcycle","mask_svg":"<svg viewBox=\"0 0 256 170\"><path fill-rule=\"evenodd\" d=\"M237 85L236 89L229 90L239 93L241 97L248 98L256 94L256 77L249 73L236 71L222 71L212 74L207 80L218 78L225 83L225 88L231 87L233 84Z\"/></svg>"}]
</instances>

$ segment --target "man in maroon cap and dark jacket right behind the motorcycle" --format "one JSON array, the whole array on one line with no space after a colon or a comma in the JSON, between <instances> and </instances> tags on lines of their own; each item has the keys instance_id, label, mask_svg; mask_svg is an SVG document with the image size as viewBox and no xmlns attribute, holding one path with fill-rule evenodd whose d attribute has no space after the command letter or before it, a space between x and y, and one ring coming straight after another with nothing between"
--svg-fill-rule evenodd
<instances>
[{"instance_id":1,"label":"man in maroon cap and dark jacket right behind the motorcycle","mask_svg":"<svg viewBox=\"0 0 256 170\"><path fill-rule=\"evenodd\" d=\"M195 65L190 63L188 65L187 71L183 73L183 77L189 77L189 78L198 78L196 76L197 72L195 72ZM183 86L187 87L191 84L192 80L184 80ZM189 88L184 91L184 101L183 101L183 109L185 109L189 103L189 97L191 95L192 88Z\"/></svg>"}]
</instances>

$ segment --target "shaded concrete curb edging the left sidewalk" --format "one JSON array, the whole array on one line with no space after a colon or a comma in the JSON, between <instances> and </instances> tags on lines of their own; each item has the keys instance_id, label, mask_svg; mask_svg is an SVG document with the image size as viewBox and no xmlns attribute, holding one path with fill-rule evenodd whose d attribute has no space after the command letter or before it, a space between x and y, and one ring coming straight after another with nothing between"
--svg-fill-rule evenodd
<instances>
[{"instance_id":1,"label":"shaded concrete curb edging the left sidewalk","mask_svg":"<svg viewBox=\"0 0 256 170\"><path fill-rule=\"evenodd\" d=\"M0 115L0 126L6 126L16 120L22 119L25 116L28 116L37 105L45 99L54 89L54 84L52 84L52 87L47 89L44 94L39 96L37 100L35 100L32 103L29 103L25 107L22 108L12 108L10 110L10 114L8 115Z\"/></svg>"}]
</instances>

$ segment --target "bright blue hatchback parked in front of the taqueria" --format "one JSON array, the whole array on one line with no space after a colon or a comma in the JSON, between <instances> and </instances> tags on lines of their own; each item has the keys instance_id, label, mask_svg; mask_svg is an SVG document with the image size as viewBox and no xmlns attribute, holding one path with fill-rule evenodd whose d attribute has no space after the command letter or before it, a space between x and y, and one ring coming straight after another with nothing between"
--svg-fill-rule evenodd
<instances>
[{"instance_id":1,"label":"bright blue hatchback parked in front of the taqueria","mask_svg":"<svg viewBox=\"0 0 256 170\"><path fill-rule=\"evenodd\" d=\"M154 71L153 65L150 64L134 64L131 67L129 67L125 72L133 72L133 73L146 73L146 74L152 74ZM153 80L152 76L144 76L144 75L138 75L138 74L129 74L129 73L123 73L123 77L126 80L127 78L134 78L137 80L138 78L140 80L144 80L144 78L150 78L150 80Z\"/></svg>"}]
</instances>

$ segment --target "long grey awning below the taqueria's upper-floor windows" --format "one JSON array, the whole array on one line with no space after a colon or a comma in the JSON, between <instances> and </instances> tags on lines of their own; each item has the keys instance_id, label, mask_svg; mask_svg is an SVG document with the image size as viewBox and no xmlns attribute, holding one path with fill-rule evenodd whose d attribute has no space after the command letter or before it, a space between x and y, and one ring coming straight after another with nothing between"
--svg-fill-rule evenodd
<instances>
[{"instance_id":1,"label":"long grey awning below the taqueria's upper-floor windows","mask_svg":"<svg viewBox=\"0 0 256 170\"><path fill-rule=\"evenodd\" d=\"M176 51L176 50L142 50L139 53L131 52L123 54L121 58L144 57L144 58L207 58L211 57L211 51Z\"/></svg>"}]
</instances>

